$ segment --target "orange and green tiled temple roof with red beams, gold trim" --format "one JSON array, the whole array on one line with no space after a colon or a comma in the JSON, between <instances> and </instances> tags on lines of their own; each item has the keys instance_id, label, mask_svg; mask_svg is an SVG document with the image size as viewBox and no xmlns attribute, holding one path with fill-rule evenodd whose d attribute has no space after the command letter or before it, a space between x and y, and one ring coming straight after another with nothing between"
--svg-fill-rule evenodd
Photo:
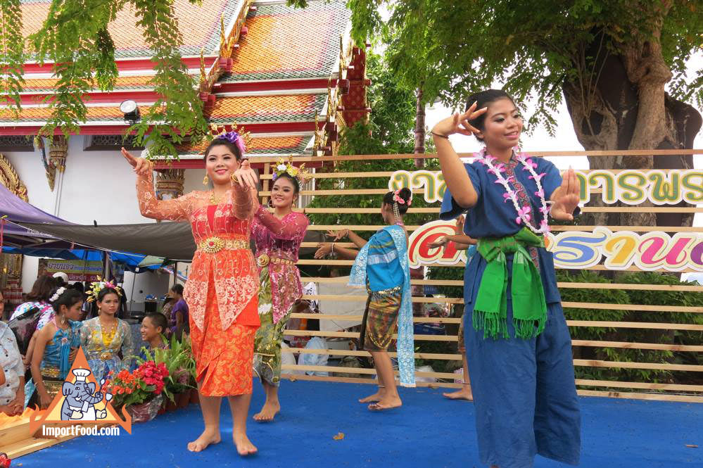
<instances>
[{"instance_id":1,"label":"orange and green tiled temple roof with red beams, gold trim","mask_svg":"<svg viewBox=\"0 0 703 468\"><path fill-rule=\"evenodd\" d=\"M49 5L22 1L25 34L39 29ZM180 51L194 82L200 77L210 122L236 122L251 132L252 154L310 154L315 131L329 120L329 103L338 101L328 87L334 90L342 69L341 39L348 38L350 27L345 2L312 0L299 9L284 1L203 0L197 6L174 0L174 8L184 41ZM136 22L134 9L125 8L110 23L119 76L110 91L95 89L86 96L87 120L80 124L84 134L122 134L128 125L120 102L134 99L144 115L158 99L151 84L151 53ZM358 72L363 75L357 67ZM20 117L0 112L0 134L36 133L50 117L40 102L55 92L51 65L27 63L24 77ZM336 104L331 110L336 112ZM184 146L181 155L196 159L201 146Z\"/></svg>"}]
</instances>

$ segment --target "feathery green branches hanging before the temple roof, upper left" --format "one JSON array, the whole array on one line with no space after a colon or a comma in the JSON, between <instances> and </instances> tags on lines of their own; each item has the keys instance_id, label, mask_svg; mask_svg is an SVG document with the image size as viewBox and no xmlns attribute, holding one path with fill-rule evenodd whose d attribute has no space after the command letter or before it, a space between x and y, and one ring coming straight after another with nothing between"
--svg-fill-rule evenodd
<instances>
[{"instance_id":1,"label":"feathery green branches hanging before the temple roof, upper left","mask_svg":"<svg viewBox=\"0 0 703 468\"><path fill-rule=\"evenodd\" d=\"M55 129L78 132L87 116L85 95L96 85L103 91L113 89L118 69L108 24L122 8L132 8L137 26L144 30L156 70L151 84L160 95L130 131L150 147L151 154L172 156L177 156L175 145L184 137L198 139L207 133L196 83L181 61L183 40L172 0L53 0L42 27L27 38L21 33L20 4L0 0L0 66L5 73L0 91L17 115L24 63L53 63L58 84L56 94L45 100L52 113L40 134L50 135Z\"/></svg>"}]
</instances>

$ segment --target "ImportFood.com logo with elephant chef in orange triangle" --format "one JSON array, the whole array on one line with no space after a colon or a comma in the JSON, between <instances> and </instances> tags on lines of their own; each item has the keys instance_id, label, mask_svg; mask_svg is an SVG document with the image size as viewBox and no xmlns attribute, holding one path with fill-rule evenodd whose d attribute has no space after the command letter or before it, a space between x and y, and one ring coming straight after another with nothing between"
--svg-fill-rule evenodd
<instances>
[{"instance_id":1,"label":"ImportFood.com logo with elephant chef in orange triangle","mask_svg":"<svg viewBox=\"0 0 703 468\"><path fill-rule=\"evenodd\" d=\"M35 433L42 426L42 435L119 436L120 427L132 434L132 417L122 408L122 419L110 404L113 396L104 391L105 380L98 384L88 361L79 348L61 392L46 410L30 417L30 430Z\"/></svg>"}]
</instances>

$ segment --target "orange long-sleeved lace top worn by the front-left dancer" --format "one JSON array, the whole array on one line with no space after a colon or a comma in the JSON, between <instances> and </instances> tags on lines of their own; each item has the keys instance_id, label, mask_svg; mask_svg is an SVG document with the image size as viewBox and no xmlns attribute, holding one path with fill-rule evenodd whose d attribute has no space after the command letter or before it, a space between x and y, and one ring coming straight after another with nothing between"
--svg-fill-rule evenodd
<instances>
[{"instance_id":1,"label":"orange long-sleeved lace top worn by the front-left dancer","mask_svg":"<svg viewBox=\"0 0 703 468\"><path fill-rule=\"evenodd\" d=\"M155 220L188 220L196 245L216 236L240 240L248 246L249 224L259 205L256 191L238 184L233 184L232 190L227 191L216 206L210 202L209 191L191 191L172 200L159 200L154 193L151 173L137 177L137 198L143 216ZM196 327L203 330L210 287L215 288L222 329L229 328L235 320L258 326L258 316L238 319L251 298L258 294L257 271L249 248L224 248L217 253L206 253L198 248L183 294Z\"/></svg>"}]
</instances>

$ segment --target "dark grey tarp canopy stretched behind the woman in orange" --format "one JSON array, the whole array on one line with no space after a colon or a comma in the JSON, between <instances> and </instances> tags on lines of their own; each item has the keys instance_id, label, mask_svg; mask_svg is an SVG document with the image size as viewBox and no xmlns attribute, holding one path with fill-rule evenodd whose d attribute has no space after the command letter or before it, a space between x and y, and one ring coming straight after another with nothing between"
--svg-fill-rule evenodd
<instances>
[{"instance_id":1,"label":"dark grey tarp canopy stretched behind the woman in orange","mask_svg":"<svg viewBox=\"0 0 703 468\"><path fill-rule=\"evenodd\" d=\"M20 223L29 229L51 234L81 244L108 251L141 253L169 260L189 262L195 253L195 243L188 222L158 222L148 224L109 224L90 226L84 224ZM305 241L317 242L322 236L318 231L308 231ZM301 248L300 253L314 252L315 248Z\"/></svg>"}]
</instances>

